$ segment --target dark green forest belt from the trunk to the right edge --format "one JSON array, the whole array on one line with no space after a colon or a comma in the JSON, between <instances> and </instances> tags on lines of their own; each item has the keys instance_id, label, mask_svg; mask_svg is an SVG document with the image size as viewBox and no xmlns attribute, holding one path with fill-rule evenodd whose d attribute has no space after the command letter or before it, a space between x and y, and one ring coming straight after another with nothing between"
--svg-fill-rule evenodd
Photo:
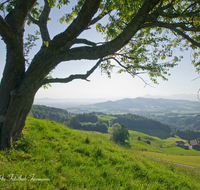
<instances>
[{"instance_id":1,"label":"dark green forest belt from the trunk to the right edge","mask_svg":"<svg viewBox=\"0 0 200 190\"><path fill-rule=\"evenodd\" d=\"M114 116L111 120L103 120L99 119L98 115L106 115L104 113L92 112L92 113L84 113L84 114L73 114L66 110L33 105L29 116L37 118L37 119L48 119L54 120L58 123L63 123L66 126L73 129L80 129L86 131L99 131L102 133L107 133L108 127L111 127L114 123L125 124L129 130L149 130L149 131L163 131L167 136L180 136L183 139L191 140L197 139L200 137L200 132L194 130L180 130L180 129L171 129L169 125L163 124L159 121L148 119L142 116L133 115L133 114L120 114L120 115L110 115ZM192 123L192 119L198 118L200 120L200 115L196 117L192 117L191 120L187 120L186 118L181 118L181 124L185 124L187 122L189 125L198 126L198 123ZM169 120L176 119L175 117L169 117ZM180 119L180 117L179 117ZM190 121L190 122L189 122ZM200 122L200 121L199 121ZM156 135L155 135L156 136Z\"/></svg>"}]
</instances>

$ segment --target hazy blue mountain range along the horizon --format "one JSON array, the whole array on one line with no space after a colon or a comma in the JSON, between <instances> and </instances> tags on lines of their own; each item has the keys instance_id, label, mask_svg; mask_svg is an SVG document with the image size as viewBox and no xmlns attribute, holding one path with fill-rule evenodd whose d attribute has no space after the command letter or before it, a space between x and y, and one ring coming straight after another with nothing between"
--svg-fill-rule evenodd
<instances>
[{"instance_id":1,"label":"hazy blue mountain range along the horizon","mask_svg":"<svg viewBox=\"0 0 200 190\"><path fill-rule=\"evenodd\" d=\"M126 98L117 101L106 101L77 107L67 107L74 113L103 112L110 114L134 113L139 115L154 114L194 114L200 113L200 102L189 100L154 99L154 98Z\"/></svg>"}]
</instances>

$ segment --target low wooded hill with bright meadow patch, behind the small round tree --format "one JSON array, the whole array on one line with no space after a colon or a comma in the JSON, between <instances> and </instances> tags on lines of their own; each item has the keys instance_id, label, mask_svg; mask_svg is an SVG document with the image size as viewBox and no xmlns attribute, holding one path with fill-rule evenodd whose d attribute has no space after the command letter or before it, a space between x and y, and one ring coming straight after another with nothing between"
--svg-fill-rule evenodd
<instances>
[{"instance_id":1,"label":"low wooded hill with bright meadow patch, behind the small round tree","mask_svg":"<svg viewBox=\"0 0 200 190\"><path fill-rule=\"evenodd\" d=\"M170 136L171 128L159 121L148 119L135 114L106 115L101 112L70 115L68 111L47 106L33 105L29 116L37 119L48 119L64 123L73 129L86 131L107 132L107 128L114 123L123 123L130 130L167 138Z\"/></svg>"}]
</instances>

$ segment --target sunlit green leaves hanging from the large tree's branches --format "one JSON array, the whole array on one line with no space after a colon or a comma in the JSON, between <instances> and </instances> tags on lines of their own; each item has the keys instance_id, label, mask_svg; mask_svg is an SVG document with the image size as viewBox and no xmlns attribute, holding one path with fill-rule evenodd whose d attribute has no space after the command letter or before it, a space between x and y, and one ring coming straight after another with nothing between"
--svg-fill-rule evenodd
<instances>
[{"instance_id":1,"label":"sunlit green leaves hanging from the large tree's branches","mask_svg":"<svg viewBox=\"0 0 200 190\"><path fill-rule=\"evenodd\" d=\"M15 8L17 2L18 0L2 1L0 10L10 12ZM59 22L69 25L73 23L85 2L85 0L78 0L72 6L71 12L59 18ZM96 31L105 36L105 42L97 43L87 40L82 42L94 47L118 38L146 2L147 0L102 0L96 17L91 20L87 29L96 24ZM50 8L61 9L71 6L71 3L74 2L48 0ZM31 17L28 18L27 24L36 24L34 21L40 19L43 10L45 10L45 5L42 5L42 1L38 1L31 10ZM195 0L158 1L132 38L119 50L102 58L101 71L107 73L109 77L113 68L117 68L118 73L128 72L132 76L148 73L150 79L157 83L157 77L167 80L166 76L170 75L169 68L173 68L183 58L183 56L174 55L174 50L178 48L180 51L192 50L191 61L197 68L197 72L200 72L198 60L200 55L199 13L199 2ZM101 21L102 18L105 18L106 21ZM31 39L34 41L36 38L31 37ZM43 40L43 42L46 47L49 46L48 41ZM26 50L26 53L28 51Z\"/></svg>"}]
</instances>

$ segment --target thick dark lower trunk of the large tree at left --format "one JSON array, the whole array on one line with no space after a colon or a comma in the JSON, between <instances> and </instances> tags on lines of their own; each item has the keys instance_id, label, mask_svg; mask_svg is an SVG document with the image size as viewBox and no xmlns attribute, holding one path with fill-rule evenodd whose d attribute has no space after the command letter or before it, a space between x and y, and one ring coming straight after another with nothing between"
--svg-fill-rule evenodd
<instances>
[{"instance_id":1,"label":"thick dark lower trunk of the large tree at left","mask_svg":"<svg viewBox=\"0 0 200 190\"><path fill-rule=\"evenodd\" d=\"M12 142L21 134L34 96L41 87L37 78L25 72L23 48L15 44L12 48L7 47L0 84L0 149L12 148Z\"/></svg>"}]
</instances>

